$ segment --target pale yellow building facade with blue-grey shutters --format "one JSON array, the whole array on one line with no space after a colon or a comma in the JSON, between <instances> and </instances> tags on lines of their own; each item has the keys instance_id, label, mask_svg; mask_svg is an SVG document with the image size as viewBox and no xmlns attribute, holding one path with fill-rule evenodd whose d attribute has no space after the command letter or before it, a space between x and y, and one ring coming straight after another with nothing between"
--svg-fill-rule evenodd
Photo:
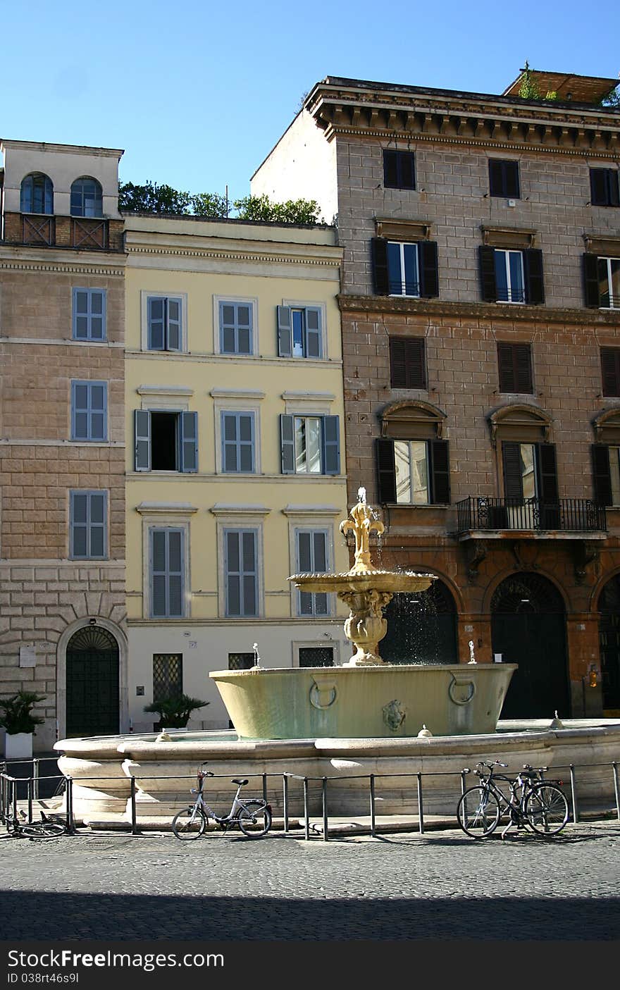
<instances>
[{"instance_id":1,"label":"pale yellow building facade with blue-grey shutters","mask_svg":"<svg viewBox=\"0 0 620 990\"><path fill-rule=\"evenodd\" d=\"M129 717L209 671L343 662L346 614L287 577L346 570L333 228L126 216ZM256 645L255 645L256 644Z\"/></svg>"}]
</instances>

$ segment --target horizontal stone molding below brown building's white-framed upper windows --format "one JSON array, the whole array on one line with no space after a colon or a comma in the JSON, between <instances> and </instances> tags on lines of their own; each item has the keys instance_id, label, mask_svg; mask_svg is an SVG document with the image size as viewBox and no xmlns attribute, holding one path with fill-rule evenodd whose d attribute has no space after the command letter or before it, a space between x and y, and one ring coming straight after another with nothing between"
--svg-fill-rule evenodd
<instances>
[{"instance_id":1,"label":"horizontal stone molding below brown building's white-framed upper windows","mask_svg":"<svg viewBox=\"0 0 620 990\"><path fill-rule=\"evenodd\" d=\"M337 296L341 313L403 313L408 316L447 316L452 319L508 320L513 323L562 323L619 327L617 310L560 309L550 306L511 306L502 303L454 303L441 300L396 299L393 296Z\"/></svg>"}]
</instances>

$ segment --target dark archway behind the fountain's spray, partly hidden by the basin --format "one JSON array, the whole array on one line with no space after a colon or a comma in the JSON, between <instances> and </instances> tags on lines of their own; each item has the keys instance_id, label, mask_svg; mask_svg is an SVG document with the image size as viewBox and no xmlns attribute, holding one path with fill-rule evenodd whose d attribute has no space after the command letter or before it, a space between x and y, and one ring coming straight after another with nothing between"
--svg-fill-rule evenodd
<instances>
[{"instance_id":1,"label":"dark archway behind the fountain's spray, partly hidden by the basin","mask_svg":"<svg viewBox=\"0 0 620 990\"><path fill-rule=\"evenodd\" d=\"M385 609L379 653L389 663L458 663L457 607L443 581L426 591L394 595Z\"/></svg>"}]
</instances>

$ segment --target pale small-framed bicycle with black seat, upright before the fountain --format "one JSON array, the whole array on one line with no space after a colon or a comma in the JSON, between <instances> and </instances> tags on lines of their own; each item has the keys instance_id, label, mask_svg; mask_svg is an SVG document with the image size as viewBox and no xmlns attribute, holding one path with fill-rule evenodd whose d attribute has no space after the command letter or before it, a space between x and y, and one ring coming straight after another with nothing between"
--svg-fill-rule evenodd
<instances>
[{"instance_id":1,"label":"pale small-framed bicycle with black seat, upright before the fountain","mask_svg":"<svg viewBox=\"0 0 620 990\"><path fill-rule=\"evenodd\" d=\"M204 763L201 764L204 766ZM198 769L198 787L192 787L190 793L196 795L193 805L179 811L172 819L172 832L177 839L199 839L207 830L209 817L225 832L231 825L238 825L247 839L261 839L271 828L271 805L262 798L252 798L242 801L239 795L247 780L234 777L237 793L233 798L231 809L227 815L217 815L204 799L204 782L207 777L213 777L211 770Z\"/></svg>"}]
</instances>

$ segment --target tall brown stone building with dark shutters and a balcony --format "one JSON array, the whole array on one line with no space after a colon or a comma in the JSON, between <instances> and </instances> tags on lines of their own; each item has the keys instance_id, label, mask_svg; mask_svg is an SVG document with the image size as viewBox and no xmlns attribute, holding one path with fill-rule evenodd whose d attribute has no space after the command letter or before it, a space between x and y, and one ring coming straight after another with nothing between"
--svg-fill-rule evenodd
<instances>
[{"instance_id":1,"label":"tall brown stone building with dark shutters and a balcony","mask_svg":"<svg viewBox=\"0 0 620 990\"><path fill-rule=\"evenodd\" d=\"M504 714L618 714L617 80L537 79L557 98L328 77L252 191L337 215L350 499L439 577L383 655L471 643L520 664Z\"/></svg>"}]
</instances>

